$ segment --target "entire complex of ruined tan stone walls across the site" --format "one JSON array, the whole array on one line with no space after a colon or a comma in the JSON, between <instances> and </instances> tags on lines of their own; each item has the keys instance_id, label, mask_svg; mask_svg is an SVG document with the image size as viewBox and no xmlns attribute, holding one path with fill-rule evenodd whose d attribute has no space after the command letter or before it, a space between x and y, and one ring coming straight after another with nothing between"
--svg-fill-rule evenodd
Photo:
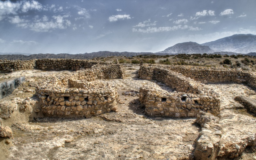
<instances>
[{"instance_id":1,"label":"entire complex of ruined tan stone walls across the site","mask_svg":"<svg viewBox=\"0 0 256 160\"><path fill-rule=\"evenodd\" d=\"M33 108L36 115L90 118L112 111L117 112L118 104L121 104L120 88L107 81L125 79L124 67L118 63L118 60L115 62L75 59L0 60L0 66L2 73L24 69L69 70L65 74L56 73L46 80L38 81L35 87L38 105ZM200 125L201 130L195 140L193 151L195 159L215 159L220 156L221 147L224 148L221 146L223 133L220 123L222 97L208 84L228 82L256 87L255 73L223 67L148 65L141 62L136 74L140 80L161 83L172 90L171 92L164 87L161 88L161 85L160 89L143 85L137 92L132 90L123 92L123 95L138 96L138 101L145 107L145 114L149 118L196 118L195 122ZM237 96L235 100L249 111L256 113L254 100L245 96ZM12 136L10 128L4 129L4 126L0 126L1 132L2 137ZM247 146L244 144L243 150ZM243 150L237 151L237 155Z\"/></svg>"}]
</instances>

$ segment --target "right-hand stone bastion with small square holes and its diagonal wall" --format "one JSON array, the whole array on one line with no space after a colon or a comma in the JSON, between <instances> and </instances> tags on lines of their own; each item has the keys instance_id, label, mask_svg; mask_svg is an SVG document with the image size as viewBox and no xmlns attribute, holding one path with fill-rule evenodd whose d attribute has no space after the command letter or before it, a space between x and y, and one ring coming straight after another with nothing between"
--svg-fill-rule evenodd
<instances>
[{"instance_id":1,"label":"right-hand stone bastion with small square holes and its diagonal wall","mask_svg":"<svg viewBox=\"0 0 256 160\"><path fill-rule=\"evenodd\" d=\"M220 114L220 98L204 84L169 69L141 66L139 76L170 86L174 92L140 88L140 102L150 116L195 117L200 111Z\"/></svg>"}]
</instances>

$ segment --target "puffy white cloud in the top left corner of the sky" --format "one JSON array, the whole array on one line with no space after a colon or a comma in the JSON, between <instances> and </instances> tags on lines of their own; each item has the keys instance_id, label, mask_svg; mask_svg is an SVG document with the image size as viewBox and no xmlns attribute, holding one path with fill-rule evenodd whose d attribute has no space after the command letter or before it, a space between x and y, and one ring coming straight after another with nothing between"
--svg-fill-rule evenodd
<instances>
[{"instance_id":1,"label":"puffy white cloud in the top left corner of the sky","mask_svg":"<svg viewBox=\"0 0 256 160\"><path fill-rule=\"evenodd\" d=\"M18 13L28 12L29 10L41 10L43 5L32 0L22 0L17 2L0 1L0 20L3 20L8 15L16 15Z\"/></svg>"}]
</instances>

